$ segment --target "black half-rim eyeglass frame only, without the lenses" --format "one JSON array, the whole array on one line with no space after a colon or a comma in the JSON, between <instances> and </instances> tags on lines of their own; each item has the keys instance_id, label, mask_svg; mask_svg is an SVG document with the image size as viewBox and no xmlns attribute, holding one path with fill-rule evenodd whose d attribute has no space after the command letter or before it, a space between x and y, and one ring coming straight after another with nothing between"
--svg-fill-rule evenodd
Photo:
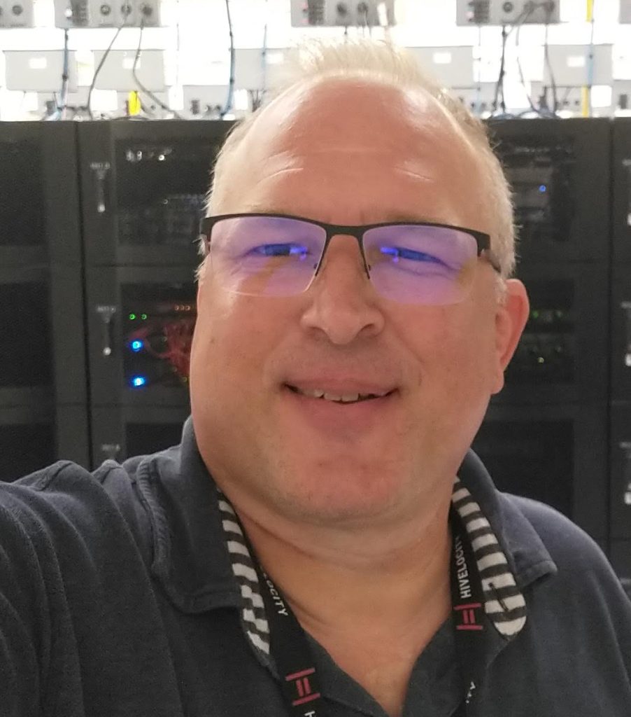
<instances>
[{"instance_id":1,"label":"black half-rim eyeglass frame only, without the lenses","mask_svg":"<svg viewBox=\"0 0 631 717\"><path fill-rule=\"evenodd\" d=\"M355 237L357 244L360 247L360 255L362 256L362 264L367 277L370 279L370 266L366 261L366 255L364 252L364 234L369 229L378 229L380 227L442 227L443 229L454 229L457 232L463 232L463 234L469 234L473 239L476 239L476 246L478 247L478 258L483 254L488 259L488 263L493 269L501 274L501 267L491 251L491 235L485 232L478 232L476 229L466 229L466 227L456 227L453 224L438 224L436 222L380 222L379 224L327 224L327 222L317 222L316 219L307 219L306 217L297 217L294 214L268 214L266 212L237 212L236 214L214 214L211 217L204 217L201 219L199 224L199 236L203 239L206 244L206 251L211 250L211 234L213 227L222 219L237 219L239 217L269 217L270 219L296 219L299 222L307 222L308 224L315 224L317 227L324 229L327 232L327 238L324 240L324 247L322 247L322 255L320 255L319 262L315 268L313 277L317 277L319 270L322 268L322 262L324 262L324 255L327 253L329 244L333 237L337 237L339 234L346 234L349 237Z\"/></svg>"}]
</instances>

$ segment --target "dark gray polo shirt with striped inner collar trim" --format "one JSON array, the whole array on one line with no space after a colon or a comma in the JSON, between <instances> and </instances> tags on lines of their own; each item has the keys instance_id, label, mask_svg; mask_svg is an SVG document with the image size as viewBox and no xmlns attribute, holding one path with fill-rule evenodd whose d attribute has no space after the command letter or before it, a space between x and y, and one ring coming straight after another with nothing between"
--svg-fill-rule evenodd
<instances>
[{"instance_id":1,"label":"dark gray polo shirt with striped inner collar trim","mask_svg":"<svg viewBox=\"0 0 631 717\"><path fill-rule=\"evenodd\" d=\"M631 715L631 603L602 552L551 508L498 493L473 453L458 475L525 605L507 635L486 600L496 622L468 715ZM190 419L168 451L92 474L59 462L0 486L0 715L286 714L219 503ZM463 701L454 619L419 655L405 717ZM329 717L384 717L309 640Z\"/></svg>"}]
</instances>

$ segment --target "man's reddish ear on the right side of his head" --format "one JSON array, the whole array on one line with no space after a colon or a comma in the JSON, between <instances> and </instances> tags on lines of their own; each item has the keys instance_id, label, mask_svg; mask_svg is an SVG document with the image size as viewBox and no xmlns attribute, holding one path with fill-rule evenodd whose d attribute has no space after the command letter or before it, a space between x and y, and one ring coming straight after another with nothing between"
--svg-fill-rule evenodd
<instances>
[{"instance_id":1,"label":"man's reddish ear on the right side of his head","mask_svg":"<svg viewBox=\"0 0 631 717\"><path fill-rule=\"evenodd\" d=\"M505 295L498 302L495 315L496 376L494 394L504 388L504 371L513 358L529 314L530 302L526 287L519 279L507 280Z\"/></svg>"}]
</instances>

